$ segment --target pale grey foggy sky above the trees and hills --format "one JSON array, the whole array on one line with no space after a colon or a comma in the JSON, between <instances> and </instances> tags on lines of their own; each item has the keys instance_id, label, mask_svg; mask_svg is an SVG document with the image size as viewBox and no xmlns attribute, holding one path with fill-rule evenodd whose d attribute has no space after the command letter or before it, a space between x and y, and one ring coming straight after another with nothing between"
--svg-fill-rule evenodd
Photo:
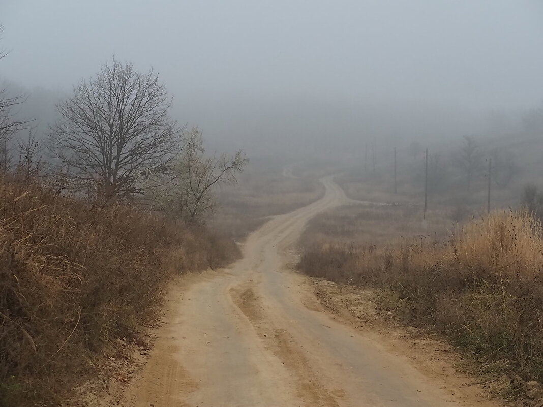
<instances>
[{"instance_id":1,"label":"pale grey foggy sky above the trees and hills","mask_svg":"<svg viewBox=\"0 0 543 407\"><path fill-rule=\"evenodd\" d=\"M255 155L507 132L543 98L540 1L3 0L0 22L0 75L42 125L36 98L115 55L159 72L180 123Z\"/></svg>"}]
</instances>

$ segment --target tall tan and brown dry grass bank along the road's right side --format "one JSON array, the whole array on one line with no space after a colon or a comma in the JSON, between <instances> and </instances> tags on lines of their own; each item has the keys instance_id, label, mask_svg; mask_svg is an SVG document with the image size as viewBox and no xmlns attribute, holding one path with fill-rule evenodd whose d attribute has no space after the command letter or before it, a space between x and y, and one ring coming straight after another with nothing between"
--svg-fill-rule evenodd
<instances>
[{"instance_id":1,"label":"tall tan and brown dry grass bank along the road's right side","mask_svg":"<svg viewBox=\"0 0 543 407\"><path fill-rule=\"evenodd\" d=\"M392 289L414 325L435 325L488 358L543 380L543 234L528 213L499 212L450 239L376 246L321 243L299 268L333 281Z\"/></svg>"}]
</instances>

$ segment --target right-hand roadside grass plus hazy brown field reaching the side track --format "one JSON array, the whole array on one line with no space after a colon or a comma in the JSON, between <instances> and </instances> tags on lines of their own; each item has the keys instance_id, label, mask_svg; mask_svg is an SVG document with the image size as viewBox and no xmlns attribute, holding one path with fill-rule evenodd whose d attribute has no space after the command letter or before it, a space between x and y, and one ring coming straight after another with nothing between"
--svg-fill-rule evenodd
<instances>
[{"instance_id":1,"label":"right-hand roadside grass plus hazy brown field reaching the side track","mask_svg":"<svg viewBox=\"0 0 543 407\"><path fill-rule=\"evenodd\" d=\"M543 381L541 202L530 187L528 209L456 225L440 220L447 212L430 212L426 227L406 206L338 208L308 225L298 268L382 290L403 322L434 327L488 363L506 360L523 379Z\"/></svg>"}]
</instances>

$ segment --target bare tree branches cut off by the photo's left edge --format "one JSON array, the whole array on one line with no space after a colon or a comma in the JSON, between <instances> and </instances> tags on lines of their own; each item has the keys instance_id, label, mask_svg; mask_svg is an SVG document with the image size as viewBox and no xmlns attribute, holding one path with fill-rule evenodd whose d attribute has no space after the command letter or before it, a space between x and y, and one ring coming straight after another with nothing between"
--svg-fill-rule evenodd
<instances>
[{"instance_id":1,"label":"bare tree branches cut off by the photo's left edge","mask_svg":"<svg viewBox=\"0 0 543 407\"><path fill-rule=\"evenodd\" d=\"M0 25L0 39L3 27ZM7 50L0 49L0 60L8 55ZM12 138L20 130L28 128L31 120L23 120L18 116L17 107L24 103L26 97L14 95L7 86L0 88L0 160L1 170L7 173L11 162Z\"/></svg>"}]
</instances>

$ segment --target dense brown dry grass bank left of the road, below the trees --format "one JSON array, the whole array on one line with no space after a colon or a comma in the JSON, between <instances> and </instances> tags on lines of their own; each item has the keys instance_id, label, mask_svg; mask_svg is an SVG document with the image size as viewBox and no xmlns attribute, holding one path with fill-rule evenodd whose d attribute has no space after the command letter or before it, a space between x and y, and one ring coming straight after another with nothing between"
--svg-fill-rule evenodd
<instances>
[{"instance_id":1,"label":"dense brown dry grass bank left of the road, below the trees","mask_svg":"<svg viewBox=\"0 0 543 407\"><path fill-rule=\"evenodd\" d=\"M0 181L0 405L58 405L102 349L132 338L169 276L236 250L133 208Z\"/></svg>"}]
</instances>

